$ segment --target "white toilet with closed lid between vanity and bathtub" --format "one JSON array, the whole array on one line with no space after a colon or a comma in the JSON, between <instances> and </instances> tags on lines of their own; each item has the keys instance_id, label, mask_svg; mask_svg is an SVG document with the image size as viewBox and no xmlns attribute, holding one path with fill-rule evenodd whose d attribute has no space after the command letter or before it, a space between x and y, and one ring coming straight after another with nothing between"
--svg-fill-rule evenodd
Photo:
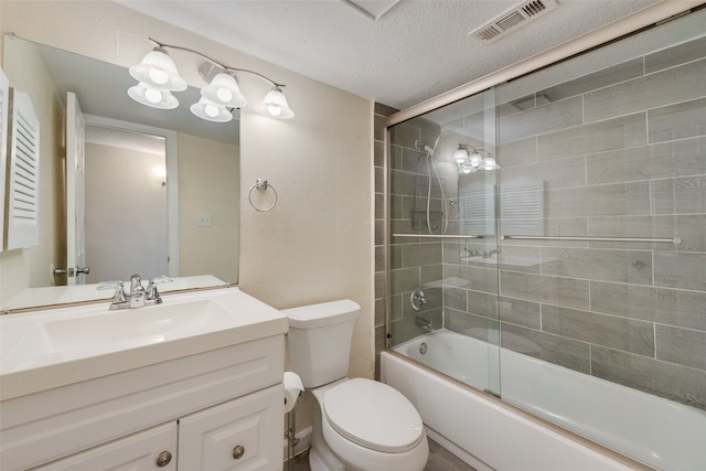
<instances>
[{"instance_id":1,"label":"white toilet with closed lid between vanity and bathtub","mask_svg":"<svg viewBox=\"0 0 706 471\"><path fill-rule=\"evenodd\" d=\"M421 417L393 387L349 378L353 325L361 307L351 300L287 309L289 360L314 407L312 471L421 471L429 446Z\"/></svg>"}]
</instances>

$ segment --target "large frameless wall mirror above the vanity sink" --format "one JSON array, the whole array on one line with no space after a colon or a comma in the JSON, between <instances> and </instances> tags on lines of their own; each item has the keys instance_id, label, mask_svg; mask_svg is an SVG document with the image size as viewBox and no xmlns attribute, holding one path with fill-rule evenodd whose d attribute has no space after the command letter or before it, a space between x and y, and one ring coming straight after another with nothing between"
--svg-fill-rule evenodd
<instances>
[{"instance_id":1,"label":"large frameless wall mirror above the vanity sink","mask_svg":"<svg viewBox=\"0 0 706 471\"><path fill-rule=\"evenodd\" d=\"M163 290L211 287L214 283L237 282L238 269L238 206L239 206L239 114L225 122L210 122L195 117L189 109L200 97L203 84L192 84L188 90L174 94L179 108L160 110L133 101L127 89L136 84L126 67L57 50L55 47L6 35L3 71L10 86L30 93L34 110L40 115L41 160L39 226L40 244L26 249L0 253L2 296L0 310L25 309L44 304L73 302L85 299L107 299L111 290L98 290L95 283L127 279L139 268L128 269L130 264L117 267L119 259L136 260L152 257L162 261L156 272L140 272L143 278L159 275L179 277L163 285ZM178 63L179 67L179 63ZM67 207L66 126L67 94L76 95L86 117L86 194L87 227L100 227L104 232L88 229L85 234L88 275L78 275L73 293L61 290L60 297L45 296L56 291L52 287L72 285L67 275L54 275L67 267ZM136 141L130 136L138 136ZM117 170L127 161L151 173L153 164L139 156L154 154L153 143L161 142L165 174L157 178L167 214L146 215L147 204L138 197L129 202L132 184L137 179L117 183ZM122 162L106 163L107 156L121 152ZM157 151L159 153L159 151ZM95 160L94 160L95 159ZM137 162L137 163L136 163ZM113 167L109 167L113 165ZM92 171L92 169L94 169ZM104 170L116 179L115 193L108 185L96 183L92 174ZM132 168L135 169L135 167ZM135 172L135 170L132 170ZM135 175L135 173L132 173ZM110 176L108 176L108 180ZM96 190L97 188L97 190ZM122 192L120 189L122 188ZM115 204L118 201L118 204ZM113 206L108 207L107 203ZM162 206L164 203L162 203ZM163 211L163 210L162 210ZM105 231L107 222L117 222L116 231ZM99 235L95 235L99 234ZM117 234L117 235L116 235ZM148 242L159 235L157 242ZM137 236L129 239L128 236ZM167 238L167 240L164 240ZM164 240L164 242L160 242ZM104 245L101 245L101 243ZM107 244L107 247L105 246ZM163 245L167 245L164 247ZM96 248L98 247L98 248ZM147 255L139 250L148 248ZM105 255L114 261L105 263ZM122 255L121 255L122 254ZM167 260L164 260L167 257ZM103 264L103 265L101 265ZM113 268L115 269L111 271ZM77 267L83 268L83 267ZM157 272L157 270L168 272ZM143 270L149 270L145 268ZM125 272L124 272L125 271ZM58 271L61 272L61 271ZM99 278L95 278L95 277ZM83 277L83 278L82 278ZM108 278L108 279L104 279ZM90 285L93 283L93 285ZM19 286L19 288L18 288ZM29 288L25 289L25 288ZM72 287L73 288L73 287ZM76 296L82 291L81 296Z\"/></svg>"}]
</instances>

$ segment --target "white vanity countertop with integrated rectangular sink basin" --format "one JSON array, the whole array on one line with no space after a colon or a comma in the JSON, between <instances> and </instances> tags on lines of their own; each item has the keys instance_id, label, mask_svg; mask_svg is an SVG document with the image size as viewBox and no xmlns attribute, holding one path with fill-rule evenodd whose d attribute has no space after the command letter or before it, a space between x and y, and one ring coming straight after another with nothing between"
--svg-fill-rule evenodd
<instances>
[{"instance_id":1,"label":"white vanity countertop with integrated rectangular sink basin","mask_svg":"<svg viewBox=\"0 0 706 471\"><path fill-rule=\"evenodd\" d=\"M287 318L237 288L0 317L0 399L287 332Z\"/></svg>"}]
</instances>

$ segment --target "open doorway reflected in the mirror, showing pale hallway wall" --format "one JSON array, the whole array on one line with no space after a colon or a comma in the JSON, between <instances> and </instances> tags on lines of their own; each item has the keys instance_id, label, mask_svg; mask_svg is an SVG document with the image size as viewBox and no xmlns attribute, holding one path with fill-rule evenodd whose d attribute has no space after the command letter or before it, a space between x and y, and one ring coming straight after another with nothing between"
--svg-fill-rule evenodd
<instances>
[{"instance_id":1,"label":"open doorway reflected in the mirror, showing pale hallway wall","mask_svg":"<svg viewBox=\"0 0 706 471\"><path fill-rule=\"evenodd\" d=\"M86 126L88 282L169 274L165 139Z\"/></svg>"}]
</instances>

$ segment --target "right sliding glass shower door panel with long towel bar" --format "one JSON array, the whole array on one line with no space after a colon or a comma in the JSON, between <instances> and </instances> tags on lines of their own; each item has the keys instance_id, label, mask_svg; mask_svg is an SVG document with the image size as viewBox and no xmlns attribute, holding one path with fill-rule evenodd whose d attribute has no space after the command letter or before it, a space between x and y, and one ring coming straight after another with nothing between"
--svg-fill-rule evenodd
<instances>
[{"instance_id":1,"label":"right sliding glass shower door panel with long towel bar","mask_svg":"<svg viewBox=\"0 0 706 471\"><path fill-rule=\"evenodd\" d=\"M502 398L660 469L706 410L704 18L498 87Z\"/></svg>"}]
</instances>

